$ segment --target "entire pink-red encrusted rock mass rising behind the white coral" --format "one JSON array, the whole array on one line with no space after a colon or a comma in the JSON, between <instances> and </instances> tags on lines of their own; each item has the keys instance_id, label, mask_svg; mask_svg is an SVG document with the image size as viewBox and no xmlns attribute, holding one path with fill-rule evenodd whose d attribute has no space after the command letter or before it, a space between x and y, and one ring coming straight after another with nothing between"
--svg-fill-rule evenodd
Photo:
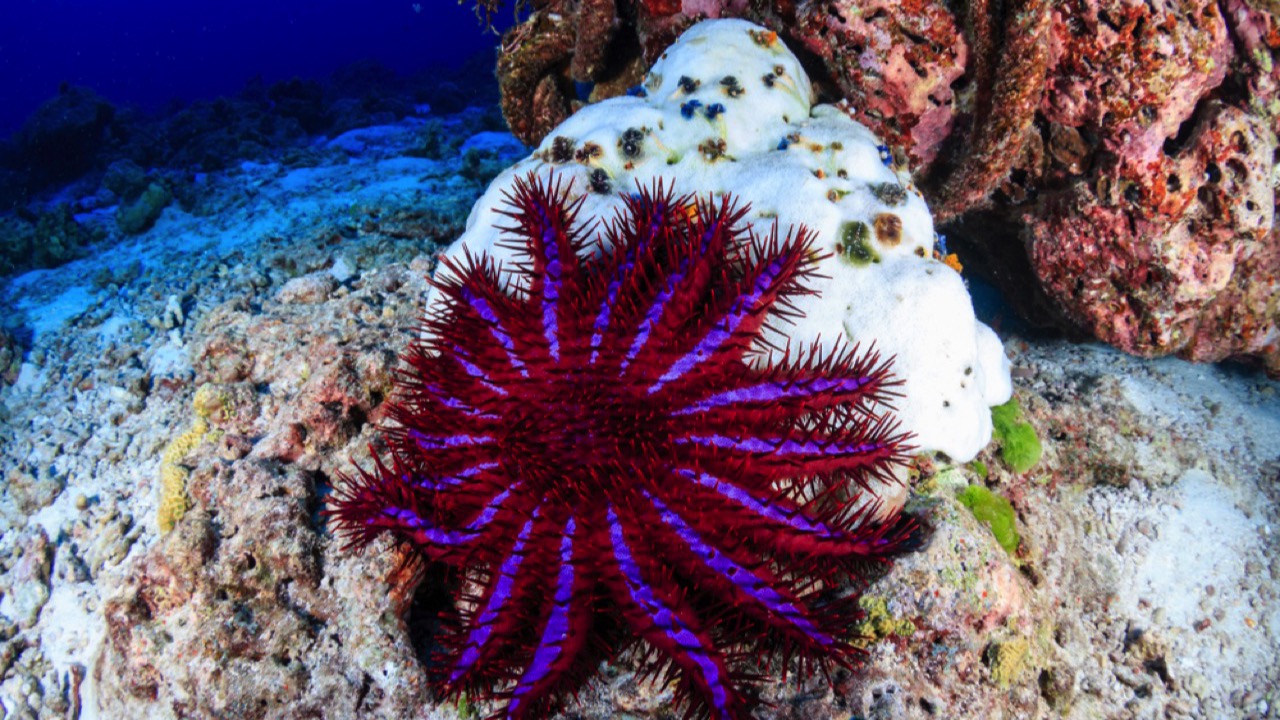
<instances>
[{"instance_id":1,"label":"entire pink-red encrusted rock mass rising behind the white coral","mask_svg":"<svg viewBox=\"0 0 1280 720\"><path fill-rule=\"evenodd\" d=\"M532 5L499 61L504 111L526 142L637 83L694 22L746 18L911 164L966 265L1033 323L1280 374L1274 4Z\"/></svg>"}]
</instances>

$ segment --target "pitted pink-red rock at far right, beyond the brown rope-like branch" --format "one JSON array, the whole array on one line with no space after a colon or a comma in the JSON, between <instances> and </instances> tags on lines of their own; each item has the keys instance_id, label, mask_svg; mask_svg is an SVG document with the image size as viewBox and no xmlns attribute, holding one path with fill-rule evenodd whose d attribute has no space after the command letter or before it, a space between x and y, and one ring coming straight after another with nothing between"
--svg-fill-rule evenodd
<instances>
[{"instance_id":1,"label":"pitted pink-red rock at far right, beyond the brown rope-like branch","mask_svg":"<svg viewBox=\"0 0 1280 720\"><path fill-rule=\"evenodd\" d=\"M1253 60L1236 58L1233 19L1252 22ZM1047 141L1024 146L997 209L1020 210L1032 269L1071 324L1139 355L1280 373L1280 114L1248 91L1272 87L1280 37L1260 19L1208 0L1056 12Z\"/></svg>"}]
</instances>

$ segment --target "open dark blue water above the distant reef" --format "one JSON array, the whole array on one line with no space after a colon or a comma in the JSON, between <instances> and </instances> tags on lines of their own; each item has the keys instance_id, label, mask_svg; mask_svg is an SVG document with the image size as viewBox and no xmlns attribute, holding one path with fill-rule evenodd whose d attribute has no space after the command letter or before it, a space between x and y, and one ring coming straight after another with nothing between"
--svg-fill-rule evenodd
<instances>
[{"instance_id":1,"label":"open dark blue water above the distant reef","mask_svg":"<svg viewBox=\"0 0 1280 720\"><path fill-rule=\"evenodd\" d=\"M3 0L0 138L64 83L156 110L356 60L413 74L495 41L472 4L454 0Z\"/></svg>"}]
</instances>

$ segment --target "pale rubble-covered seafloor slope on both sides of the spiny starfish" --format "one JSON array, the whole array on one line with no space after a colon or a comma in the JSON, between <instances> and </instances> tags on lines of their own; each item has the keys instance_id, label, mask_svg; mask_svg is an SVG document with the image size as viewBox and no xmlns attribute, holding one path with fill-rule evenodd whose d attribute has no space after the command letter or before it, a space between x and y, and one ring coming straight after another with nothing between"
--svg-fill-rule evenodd
<instances>
[{"instance_id":1,"label":"pale rubble-covered seafloor slope on both sides of the spiny starfish","mask_svg":"<svg viewBox=\"0 0 1280 720\"><path fill-rule=\"evenodd\" d=\"M431 578L317 515L439 243L522 152L480 127L211 173L206 214L3 281L29 352L0 387L0 717L484 714L426 689ZM1280 716L1280 383L1002 337L1043 457L919 462L936 532L869 589L868 666L773 684L760 716ZM1015 552L969 484L1012 502ZM671 715L634 659L602 678L575 716Z\"/></svg>"}]
</instances>

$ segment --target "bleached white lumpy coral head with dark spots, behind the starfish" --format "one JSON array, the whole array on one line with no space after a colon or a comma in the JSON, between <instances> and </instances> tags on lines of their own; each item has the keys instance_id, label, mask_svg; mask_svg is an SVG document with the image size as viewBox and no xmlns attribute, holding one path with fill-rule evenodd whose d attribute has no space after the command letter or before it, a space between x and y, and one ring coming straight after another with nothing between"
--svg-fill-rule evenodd
<instances>
[{"instance_id":1,"label":"bleached white lumpy coral head with dark spots, behind the starfish","mask_svg":"<svg viewBox=\"0 0 1280 720\"><path fill-rule=\"evenodd\" d=\"M498 210L530 172L572 179L582 222L608 220L625 193L663 179L732 193L755 223L815 231L829 254L820 293L799 299L805 316L769 341L874 343L896 357L897 416L922 451L965 461L989 442L988 407L1012 391L998 340L934 258L933 220L905 168L838 106L812 105L808 76L774 33L739 19L690 28L632 96L582 108L494 179L448 255L513 259L498 243Z\"/></svg>"}]
</instances>

